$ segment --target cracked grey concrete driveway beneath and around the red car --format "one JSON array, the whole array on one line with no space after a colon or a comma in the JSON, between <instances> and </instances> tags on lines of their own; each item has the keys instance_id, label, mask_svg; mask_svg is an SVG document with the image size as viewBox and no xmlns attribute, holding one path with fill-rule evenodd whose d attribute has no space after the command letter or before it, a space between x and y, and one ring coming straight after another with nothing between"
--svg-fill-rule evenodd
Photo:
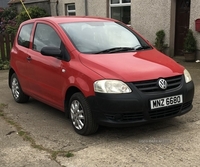
<instances>
[{"instance_id":1,"label":"cracked grey concrete driveway beneath and around the red car","mask_svg":"<svg viewBox=\"0 0 200 167\"><path fill-rule=\"evenodd\" d=\"M0 166L199 166L200 63L176 60L195 83L193 110L181 117L131 128L76 134L64 114L34 99L14 101L8 71L0 71Z\"/></svg>"}]
</instances>

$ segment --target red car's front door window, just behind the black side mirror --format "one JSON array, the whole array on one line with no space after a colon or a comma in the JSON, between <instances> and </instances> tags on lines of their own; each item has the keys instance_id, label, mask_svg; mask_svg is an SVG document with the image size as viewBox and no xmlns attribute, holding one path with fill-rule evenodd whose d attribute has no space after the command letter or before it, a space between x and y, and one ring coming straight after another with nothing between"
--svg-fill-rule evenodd
<instances>
[{"instance_id":1,"label":"red car's front door window, just behind the black side mirror","mask_svg":"<svg viewBox=\"0 0 200 167\"><path fill-rule=\"evenodd\" d=\"M56 31L49 25L38 23L36 26L33 49L40 52L45 46L60 48L61 39Z\"/></svg>"}]
</instances>

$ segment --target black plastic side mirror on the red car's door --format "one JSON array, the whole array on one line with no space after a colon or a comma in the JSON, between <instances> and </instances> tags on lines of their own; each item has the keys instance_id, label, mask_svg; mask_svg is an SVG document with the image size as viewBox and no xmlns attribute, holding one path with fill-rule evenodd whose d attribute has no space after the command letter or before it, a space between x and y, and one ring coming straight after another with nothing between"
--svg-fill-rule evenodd
<instances>
[{"instance_id":1,"label":"black plastic side mirror on the red car's door","mask_svg":"<svg viewBox=\"0 0 200 167\"><path fill-rule=\"evenodd\" d=\"M62 57L60 48L56 47L43 47L40 53L44 56Z\"/></svg>"}]
</instances>

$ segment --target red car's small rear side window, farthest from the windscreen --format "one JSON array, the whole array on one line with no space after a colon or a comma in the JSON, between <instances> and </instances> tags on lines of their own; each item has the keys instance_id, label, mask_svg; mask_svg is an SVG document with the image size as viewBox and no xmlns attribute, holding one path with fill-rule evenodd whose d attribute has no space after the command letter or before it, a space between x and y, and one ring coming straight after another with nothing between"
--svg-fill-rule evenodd
<instances>
[{"instance_id":1,"label":"red car's small rear side window, farthest from the windscreen","mask_svg":"<svg viewBox=\"0 0 200 167\"><path fill-rule=\"evenodd\" d=\"M21 28L17 39L19 45L29 48L32 27L33 24L26 24Z\"/></svg>"}]
</instances>

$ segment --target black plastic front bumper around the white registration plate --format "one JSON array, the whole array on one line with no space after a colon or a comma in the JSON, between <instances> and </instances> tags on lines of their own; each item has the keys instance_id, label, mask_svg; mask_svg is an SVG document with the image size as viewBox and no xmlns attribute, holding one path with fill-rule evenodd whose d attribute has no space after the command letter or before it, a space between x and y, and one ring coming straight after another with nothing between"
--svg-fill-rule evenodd
<instances>
[{"instance_id":1,"label":"black plastic front bumper around the white registration plate","mask_svg":"<svg viewBox=\"0 0 200 167\"><path fill-rule=\"evenodd\" d=\"M105 126L130 126L145 122L183 115L192 109L194 83L185 83L182 76L181 84L173 89L156 92L142 92L133 84L128 83L132 92L129 94L101 94L88 97L88 102L96 121ZM183 95L183 103L153 109L150 100Z\"/></svg>"}]
</instances>

